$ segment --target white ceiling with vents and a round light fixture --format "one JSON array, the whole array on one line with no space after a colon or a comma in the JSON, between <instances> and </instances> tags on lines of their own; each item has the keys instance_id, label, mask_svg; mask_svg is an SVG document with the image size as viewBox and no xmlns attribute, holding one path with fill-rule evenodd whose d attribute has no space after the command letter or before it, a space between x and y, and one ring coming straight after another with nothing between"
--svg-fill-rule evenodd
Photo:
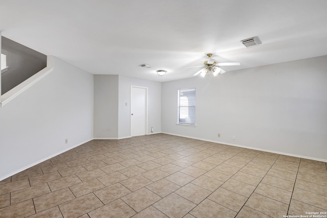
<instances>
[{"instance_id":1,"label":"white ceiling with vents and a round light fixture","mask_svg":"<svg viewBox=\"0 0 327 218\"><path fill-rule=\"evenodd\" d=\"M0 0L0 31L92 74L162 82L192 77L183 67L206 53L241 62L226 71L327 55L326 11L325 0ZM262 44L247 49L253 36Z\"/></svg>"}]
</instances>

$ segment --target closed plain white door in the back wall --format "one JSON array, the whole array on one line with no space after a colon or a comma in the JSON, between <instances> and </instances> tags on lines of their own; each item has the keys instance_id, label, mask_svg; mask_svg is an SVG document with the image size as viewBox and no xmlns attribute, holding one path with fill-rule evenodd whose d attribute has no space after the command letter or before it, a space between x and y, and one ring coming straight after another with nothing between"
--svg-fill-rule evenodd
<instances>
[{"instance_id":1,"label":"closed plain white door in the back wall","mask_svg":"<svg viewBox=\"0 0 327 218\"><path fill-rule=\"evenodd\" d=\"M131 136L147 131L148 88L131 86Z\"/></svg>"}]
</instances>

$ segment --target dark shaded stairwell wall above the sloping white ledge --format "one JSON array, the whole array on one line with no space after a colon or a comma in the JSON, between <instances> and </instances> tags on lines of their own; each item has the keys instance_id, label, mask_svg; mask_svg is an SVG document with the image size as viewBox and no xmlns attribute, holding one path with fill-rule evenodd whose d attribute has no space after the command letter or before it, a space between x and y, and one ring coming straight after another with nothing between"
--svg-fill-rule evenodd
<instances>
[{"instance_id":1,"label":"dark shaded stairwell wall above the sloping white ledge","mask_svg":"<svg viewBox=\"0 0 327 218\"><path fill-rule=\"evenodd\" d=\"M32 77L46 67L46 55L2 36L1 53L8 69L1 74L1 94Z\"/></svg>"}]
</instances>

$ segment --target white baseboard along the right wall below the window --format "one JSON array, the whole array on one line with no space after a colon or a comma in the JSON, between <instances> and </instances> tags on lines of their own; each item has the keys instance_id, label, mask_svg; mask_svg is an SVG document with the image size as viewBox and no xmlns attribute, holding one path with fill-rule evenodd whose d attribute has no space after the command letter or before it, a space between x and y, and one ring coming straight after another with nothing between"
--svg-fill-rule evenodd
<instances>
[{"instance_id":1,"label":"white baseboard along the right wall below the window","mask_svg":"<svg viewBox=\"0 0 327 218\"><path fill-rule=\"evenodd\" d=\"M302 156L302 155L296 155L296 154L289 154L289 153L278 152L278 151L271 151L271 150L266 150L266 149L253 148L253 147L248 147L248 146L241 146L240 144L232 144L232 143L226 143L226 142L223 142L223 141L214 141L214 140L209 140L209 139L205 139L205 138L197 138L197 137L191 137L191 136L173 134L173 133L168 133L168 132L162 132L162 133L168 134L168 135L175 135L175 136L185 137L185 138L193 138L193 139L202 140L202 141L209 141L209 142L227 144L228 146L235 146L235 147L240 147L240 148L245 148L245 149L252 149L252 150L257 150L257 151L263 151L263 152L270 152L270 153L275 153L275 154L287 155L287 156L291 156L291 157L299 157L299 158L305 158L305 159L309 159L309 160L316 160L316 161L321 161L321 162L327 162L327 160L325 160L325 159L320 159L320 158L315 158L315 157L308 157L308 156Z\"/></svg>"}]
</instances>

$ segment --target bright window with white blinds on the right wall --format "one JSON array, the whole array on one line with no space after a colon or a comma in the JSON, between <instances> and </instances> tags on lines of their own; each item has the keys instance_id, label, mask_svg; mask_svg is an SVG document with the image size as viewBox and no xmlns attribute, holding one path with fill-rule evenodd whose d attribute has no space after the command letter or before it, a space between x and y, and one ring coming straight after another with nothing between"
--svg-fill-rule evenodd
<instances>
[{"instance_id":1,"label":"bright window with white blinds on the right wall","mask_svg":"<svg viewBox=\"0 0 327 218\"><path fill-rule=\"evenodd\" d=\"M178 89L178 124L195 125L195 88Z\"/></svg>"}]
</instances>

